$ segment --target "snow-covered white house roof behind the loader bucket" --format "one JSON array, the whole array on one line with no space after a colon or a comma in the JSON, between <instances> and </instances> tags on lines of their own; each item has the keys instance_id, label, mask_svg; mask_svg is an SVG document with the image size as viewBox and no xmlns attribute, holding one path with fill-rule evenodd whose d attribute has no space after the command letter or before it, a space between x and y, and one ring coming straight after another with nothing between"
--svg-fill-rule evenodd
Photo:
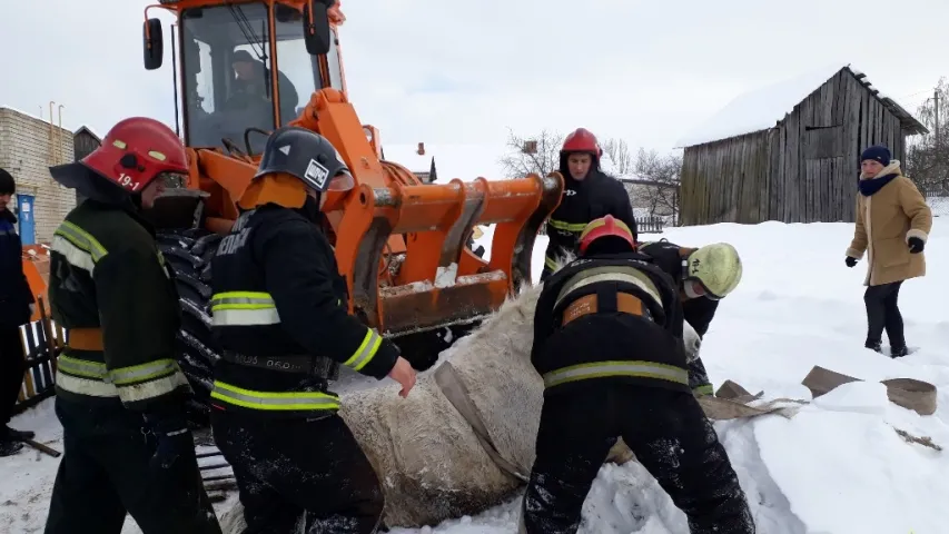
<instances>
[{"instance_id":1,"label":"snow-covered white house roof behind the loader bucket","mask_svg":"<svg viewBox=\"0 0 949 534\"><path fill-rule=\"evenodd\" d=\"M432 170L435 159L437 184L447 184L453 178L472 181L478 176L488 180L508 178L504 176L501 158L507 152L501 145L438 145L425 144L425 155L419 156L418 145L383 145L386 161L402 165L412 172Z\"/></svg>"}]
</instances>

